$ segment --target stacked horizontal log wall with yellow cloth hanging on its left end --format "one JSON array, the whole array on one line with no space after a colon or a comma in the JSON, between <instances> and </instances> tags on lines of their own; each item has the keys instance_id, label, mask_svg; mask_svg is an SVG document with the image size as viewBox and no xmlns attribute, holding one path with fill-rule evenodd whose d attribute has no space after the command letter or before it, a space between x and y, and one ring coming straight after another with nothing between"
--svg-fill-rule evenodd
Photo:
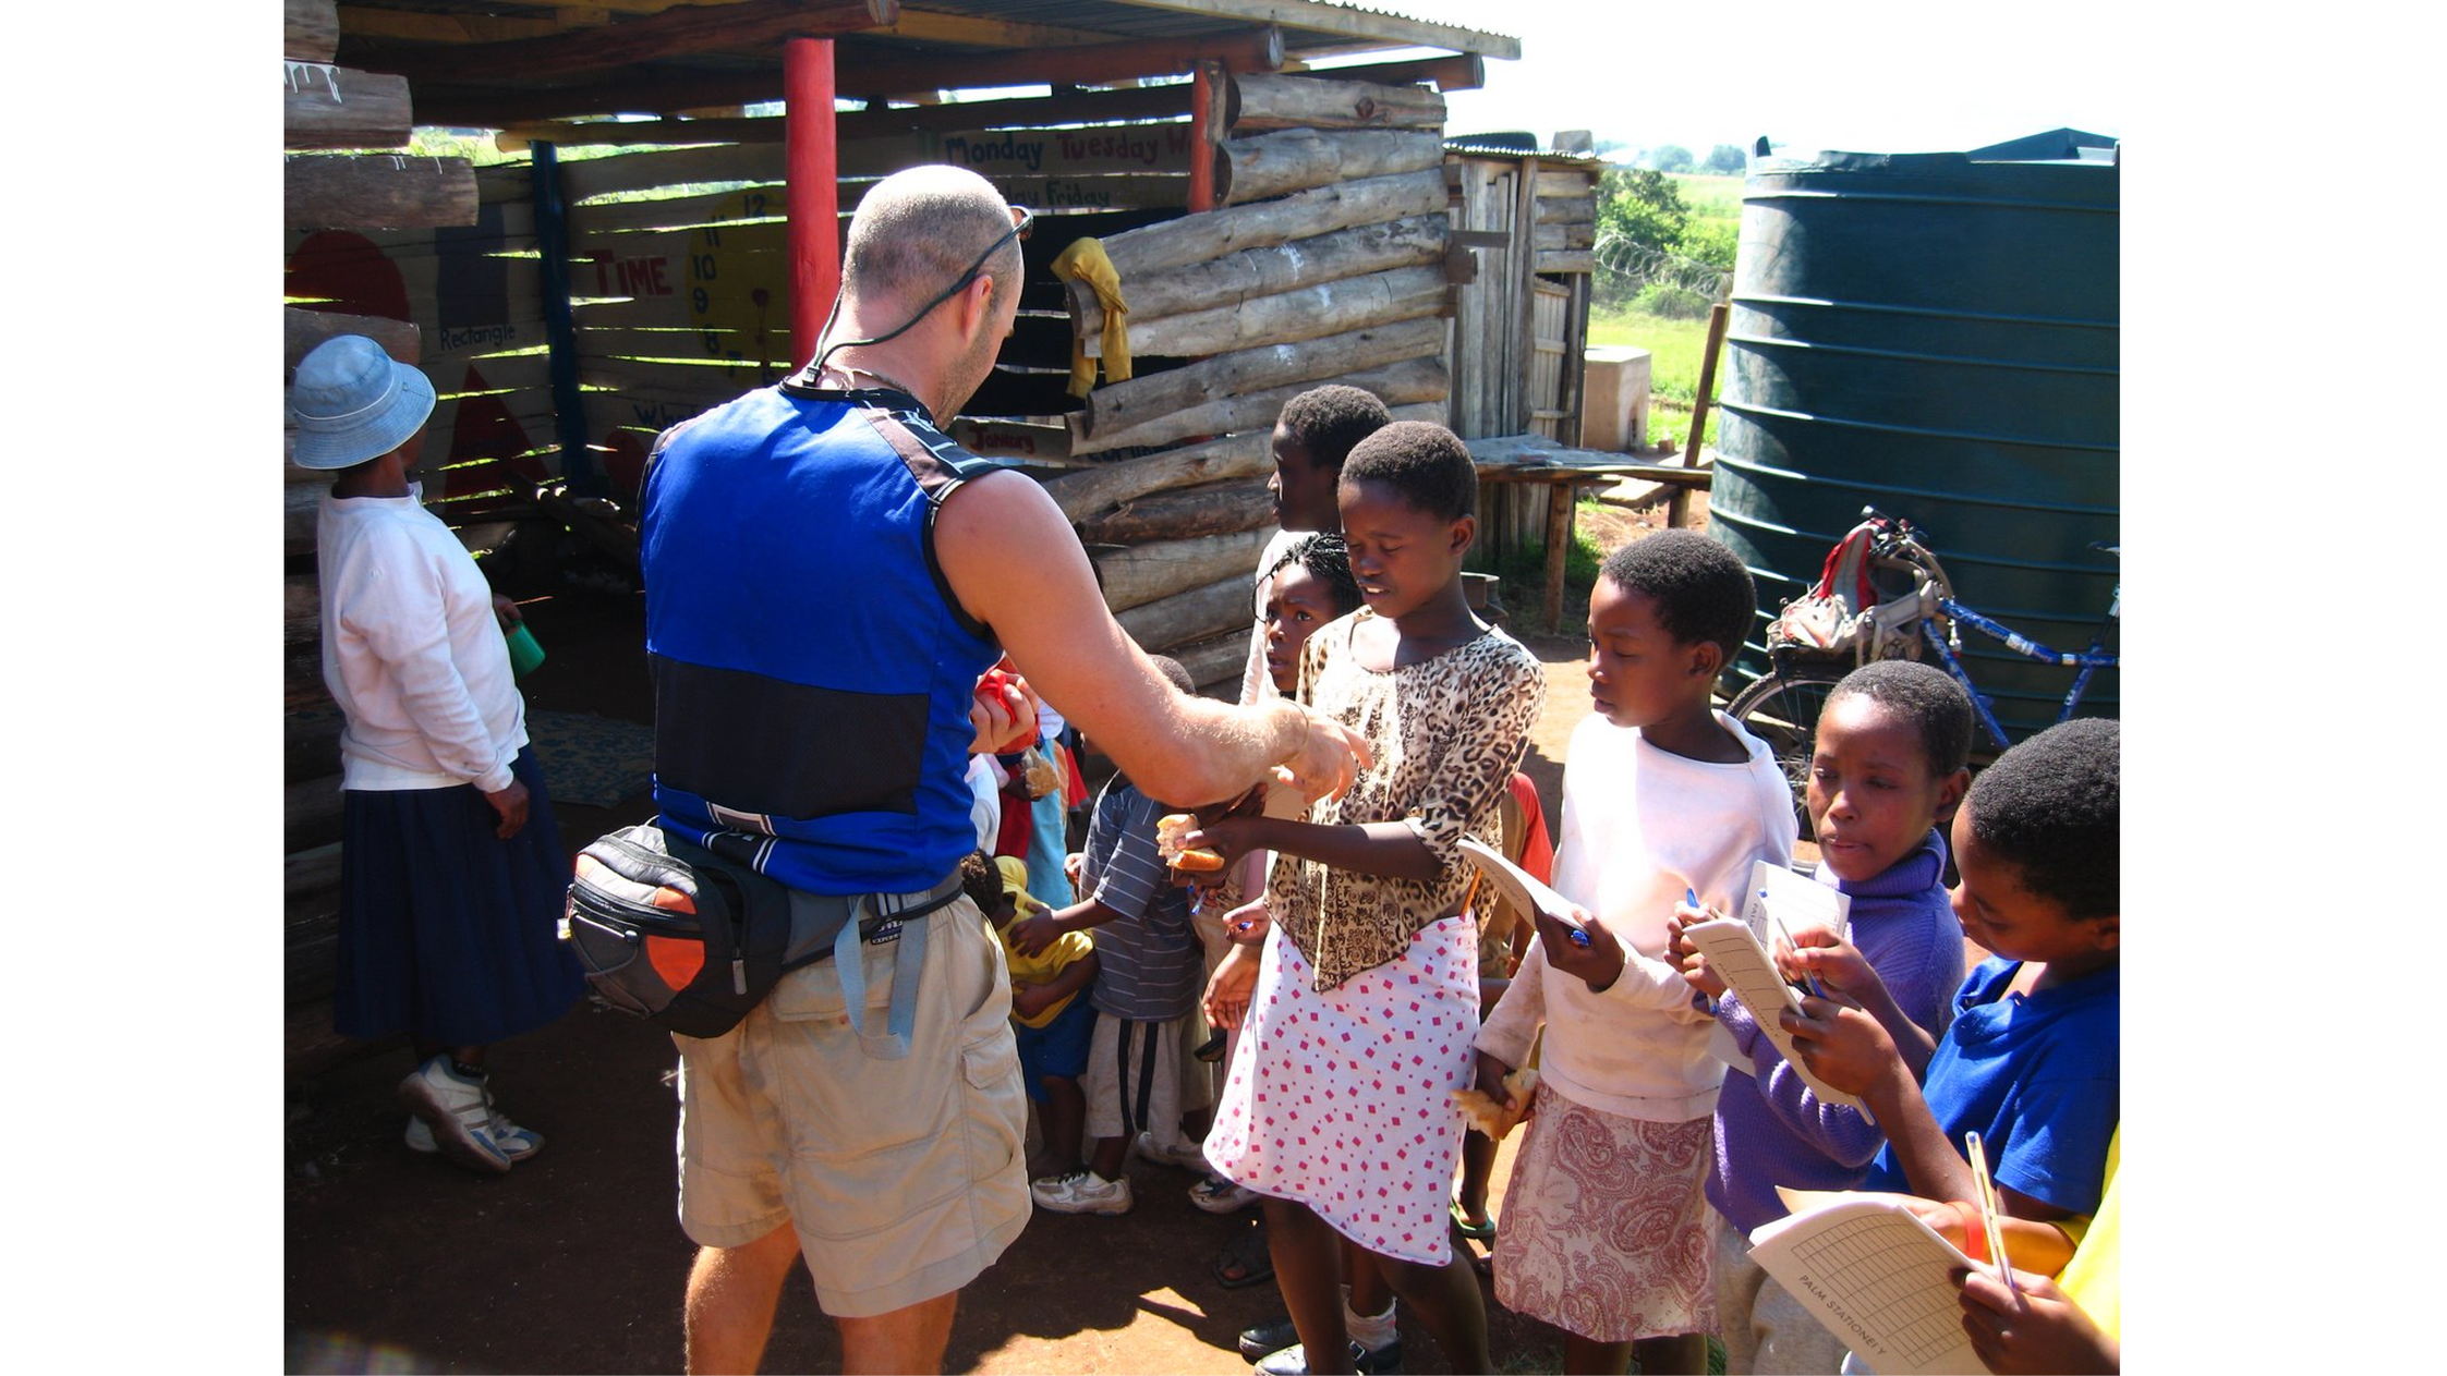
<instances>
[{"instance_id":1,"label":"stacked horizontal log wall with yellow cloth hanging on its left end","mask_svg":"<svg viewBox=\"0 0 2447 1376\"><path fill-rule=\"evenodd\" d=\"M1094 467L1047 491L1096 545L1123 628L1182 657L1201 687L1228 687L1272 535L1275 415L1343 381L1405 420L1444 420L1449 318L1468 271L1439 90L1270 73L1211 86L1221 208L1101 240L1131 306L1133 376L1069 413L1069 455ZM1079 286L1067 306L1072 337L1099 357L1101 306ZM1192 545L1209 552L1187 557Z\"/></svg>"}]
</instances>

